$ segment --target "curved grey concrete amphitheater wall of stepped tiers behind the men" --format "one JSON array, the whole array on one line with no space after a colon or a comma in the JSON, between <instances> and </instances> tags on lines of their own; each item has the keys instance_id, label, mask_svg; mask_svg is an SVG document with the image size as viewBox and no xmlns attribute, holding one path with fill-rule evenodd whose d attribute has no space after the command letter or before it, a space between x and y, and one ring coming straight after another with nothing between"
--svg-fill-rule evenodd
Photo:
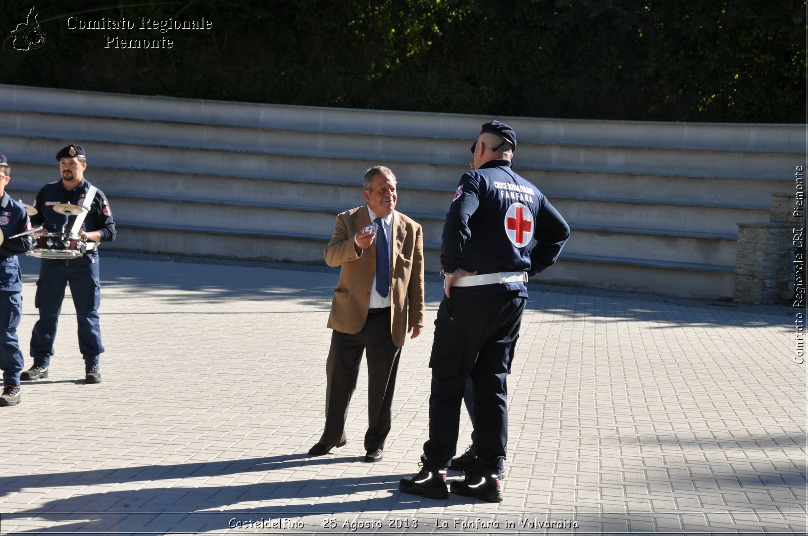
<instances>
[{"instance_id":1,"label":"curved grey concrete amphitheater wall of stepped tiers behind the men","mask_svg":"<svg viewBox=\"0 0 808 536\"><path fill-rule=\"evenodd\" d=\"M0 108L20 199L57 178L58 149L84 145L120 226L108 248L322 262L335 214L384 164L432 272L469 142L493 119L3 85ZM730 299L737 224L768 221L805 161L805 125L498 119L516 129L515 169L573 228L548 283Z\"/></svg>"}]
</instances>

